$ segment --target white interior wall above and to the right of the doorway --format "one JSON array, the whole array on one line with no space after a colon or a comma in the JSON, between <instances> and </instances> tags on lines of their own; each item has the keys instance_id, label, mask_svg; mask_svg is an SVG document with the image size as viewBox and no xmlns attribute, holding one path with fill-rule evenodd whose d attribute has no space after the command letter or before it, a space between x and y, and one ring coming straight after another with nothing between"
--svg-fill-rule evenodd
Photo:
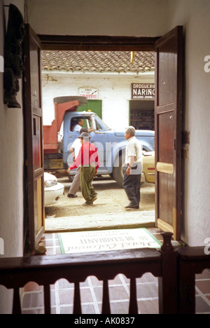
<instances>
[{"instance_id":1,"label":"white interior wall above and to the right of the doorway","mask_svg":"<svg viewBox=\"0 0 210 328\"><path fill-rule=\"evenodd\" d=\"M186 118L183 239L203 245L210 237L209 0L30 0L29 23L38 34L161 36L183 25L186 36ZM56 24L55 22L59 22ZM203 160L203 156L205 159Z\"/></svg>"}]
</instances>

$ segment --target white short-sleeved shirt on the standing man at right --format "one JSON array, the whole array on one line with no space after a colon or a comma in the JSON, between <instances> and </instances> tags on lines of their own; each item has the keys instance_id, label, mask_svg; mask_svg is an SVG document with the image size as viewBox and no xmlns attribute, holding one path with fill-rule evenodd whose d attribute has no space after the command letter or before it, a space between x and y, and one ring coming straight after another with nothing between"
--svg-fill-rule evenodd
<instances>
[{"instance_id":1,"label":"white short-sleeved shirt on the standing man at right","mask_svg":"<svg viewBox=\"0 0 210 328\"><path fill-rule=\"evenodd\" d=\"M130 163L130 156L135 156L134 163L142 163L142 146L140 140L136 137L131 137L127 140L127 146L125 149L125 163Z\"/></svg>"}]
</instances>

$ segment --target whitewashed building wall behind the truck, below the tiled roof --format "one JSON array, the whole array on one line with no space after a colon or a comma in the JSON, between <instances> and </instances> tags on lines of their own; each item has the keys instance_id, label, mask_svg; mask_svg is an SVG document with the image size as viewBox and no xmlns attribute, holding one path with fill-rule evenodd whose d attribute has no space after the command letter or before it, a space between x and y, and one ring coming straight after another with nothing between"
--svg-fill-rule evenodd
<instances>
[{"instance_id":1,"label":"whitewashed building wall behind the truck, below the tiled roof","mask_svg":"<svg viewBox=\"0 0 210 328\"><path fill-rule=\"evenodd\" d=\"M43 124L50 125L54 116L53 97L78 95L79 88L97 88L102 100L103 121L114 130L129 125L131 83L154 83L154 73L138 78L123 74L68 74L45 71L42 74Z\"/></svg>"}]
</instances>

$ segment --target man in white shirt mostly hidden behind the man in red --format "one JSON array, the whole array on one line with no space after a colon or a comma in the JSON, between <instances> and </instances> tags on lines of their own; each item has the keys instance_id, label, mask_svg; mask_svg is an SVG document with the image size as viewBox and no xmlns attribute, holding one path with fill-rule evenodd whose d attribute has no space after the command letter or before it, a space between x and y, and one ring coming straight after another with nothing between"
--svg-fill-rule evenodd
<instances>
[{"instance_id":1,"label":"man in white shirt mostly hidden behind the man in red","mask_svg":"<svg viewBox=\"0 0 210 328\"><path fill-rule=\"evenodd\" d=\"M80 132L80 134L82 132L87 132L87 128L80 128L79 132ZM82 146L82 144L80 142L80 139L79 138L75 139L70 148L70 153L73 156L73 160L75 160L77 158L81 146ZM71 187L69 189L69 193L67 194L67 197L68 198L76 198L77 197L76 193L77 193L79 187L80 187L80 166L76 169L76 174L73 178L73 182L71 183Z\"/></svg>"}]
</instances>

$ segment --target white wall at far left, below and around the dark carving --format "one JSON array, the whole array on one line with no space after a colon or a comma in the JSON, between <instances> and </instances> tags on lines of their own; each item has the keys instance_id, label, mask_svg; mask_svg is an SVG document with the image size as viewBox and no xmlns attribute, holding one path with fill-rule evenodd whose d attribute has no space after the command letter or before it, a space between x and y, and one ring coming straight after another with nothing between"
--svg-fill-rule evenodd
<instances>
[{"instance_id":1,"label":"white wall at far left, below and around the dark carving","mask_svg":"<svg viewBox=\"0 0 210 328\"><path fill-rule=\"evenodd\" d=\"M16 4L17 1L4 1ZM24 1L18 1L19 4ZM6 9L7 10L7 9ZM0 55L3 55L3 3L0 4ZM21 81L20 81L21 86ZM21 88L22 89L22 88ZM17 100L22 104L22 91ZM3 104L3 73L0 73L0 238L4 257L22 256L23 244L23 121L22 109ZM2 292L3 289L3 292ZM11 293L0 287L0 313L10 313Z\"/></svg>"}]
</instances>

